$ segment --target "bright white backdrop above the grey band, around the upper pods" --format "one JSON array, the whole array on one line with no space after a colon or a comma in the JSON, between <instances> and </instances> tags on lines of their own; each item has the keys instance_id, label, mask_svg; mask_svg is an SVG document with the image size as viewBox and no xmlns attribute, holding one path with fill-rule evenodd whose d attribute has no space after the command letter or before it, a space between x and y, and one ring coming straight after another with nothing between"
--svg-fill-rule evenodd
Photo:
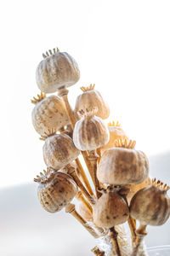
<instances>
[{"instance_id":1,"label":"bright white backdrop above the grey band, around the upper pods","mask_svg":"<svg viewBox=\"0 0 170 256\"><path fill-rule=\"evenodd\" d=\"M58 46L75 57L80 81L96 84L136 148L170 149L169 1L5 1L1 3L0 187L32 182L45 165L31 125L42 52Z\"/></svg>"}]
</instances>

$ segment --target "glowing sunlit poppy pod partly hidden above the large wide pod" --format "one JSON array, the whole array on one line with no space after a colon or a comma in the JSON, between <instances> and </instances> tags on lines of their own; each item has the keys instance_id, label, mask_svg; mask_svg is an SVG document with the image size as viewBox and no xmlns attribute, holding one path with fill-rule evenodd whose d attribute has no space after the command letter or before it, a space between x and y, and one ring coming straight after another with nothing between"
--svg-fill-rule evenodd
<instances>
[{"instance_id":1,"label":"glowing sunlit poppy pod partly hidden above the large wide pod","mask_svg":"<svg viewBox=\"0 0 170 256\"><path fill-rule=\"evenodd\" d=\"M116 147L116 145L115 145L116 140L119 140L119 139L128 140L128 137L127 137L125 131L123 131L120 126L121 125L118 122L115 123L114 121L112 123L110 122L108 124L108 130L110 132L110 140L107 144L105 144L104 147L99 148L100 154L103 154L106 149Z\"/></svg>"}]
</instances>

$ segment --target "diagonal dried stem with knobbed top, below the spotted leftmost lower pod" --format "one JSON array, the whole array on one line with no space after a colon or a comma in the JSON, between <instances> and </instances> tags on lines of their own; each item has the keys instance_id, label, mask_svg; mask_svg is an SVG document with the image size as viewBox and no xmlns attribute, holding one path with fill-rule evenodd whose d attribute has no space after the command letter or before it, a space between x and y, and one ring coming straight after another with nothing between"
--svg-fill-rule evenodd
<instances>
[{"instance_id":1,"label":"diagonal dried stem with knobbed top, below the spotted leftmost lower pod","mask_svg":"<svg viewBox=\"0 0 170 256\"><path fill-rule=\"evenodd\" d=\"M82 216L76 211L75 209L75 205L73 204L69 204L67 207L65 207L65 212L71 213L71 215L75 218L77 218L77 220L79 221L79 223L82 224L82 226L88 230L88 232L94 236L94 238L98 238L98 234L95 232L95 230L90 227L88 225L88 223L86 222L86 220L84 218L82 218Z\"/></svg>"}]
</instances>

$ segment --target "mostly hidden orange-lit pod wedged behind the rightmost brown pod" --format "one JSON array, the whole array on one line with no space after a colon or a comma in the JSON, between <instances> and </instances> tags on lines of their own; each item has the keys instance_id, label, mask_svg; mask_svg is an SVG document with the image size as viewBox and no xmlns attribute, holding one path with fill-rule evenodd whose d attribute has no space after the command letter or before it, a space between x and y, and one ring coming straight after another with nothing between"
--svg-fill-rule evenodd
<instances>
[{"instance_id":1,"label":"mostly hidden orange-lit pod wedged behind the rightmost brown pod","mask_svg":"<svg viewBox=\"0 0 170 256\"><path fill-rule=\"evenodd\" d=\"M127 189L129 189L129 192L127 194L128 203L130 203L134 194L136 194L140 189L144 189L146 186L149 186L150 184L151 184L151 179L150 177L147 177L143 183L127 185L126 187Z\"/></svg>"}]
</instances>

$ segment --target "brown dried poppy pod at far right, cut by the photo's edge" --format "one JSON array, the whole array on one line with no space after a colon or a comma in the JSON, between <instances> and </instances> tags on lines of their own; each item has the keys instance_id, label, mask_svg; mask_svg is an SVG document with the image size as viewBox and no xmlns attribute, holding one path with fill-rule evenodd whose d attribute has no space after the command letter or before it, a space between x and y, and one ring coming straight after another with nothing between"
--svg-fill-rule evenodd
<instances>
[{"instance_id":1,"label":"brown dried poppy pod at far right, cut by the photo's edge","mask_svg":"<svg viewBox=\"0 0 170 256\"><path fill-rule=\"evenodd\" d=\"M130 215L138 219L142 225L162 225L170 216L169 187L159 180L152 185L140 189L130 203Z\"/></svg>"}]
</instances>

